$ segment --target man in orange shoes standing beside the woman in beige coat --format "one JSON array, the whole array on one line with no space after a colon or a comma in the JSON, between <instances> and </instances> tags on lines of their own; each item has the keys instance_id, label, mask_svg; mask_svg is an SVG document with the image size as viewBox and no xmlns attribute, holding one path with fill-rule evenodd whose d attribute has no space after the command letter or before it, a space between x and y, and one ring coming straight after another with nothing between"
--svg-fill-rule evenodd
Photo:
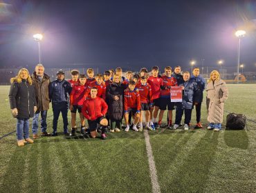
<instances>
[{"instance_id":1,"label":"man in orange shoes standing beside the woman in beige coat","mask_svg":"<svg viewBox=\"0 0 256 193\"><path fill-rule=\"evenodd\" d=\"M197 85L197 90L194 93L194 105L196 106L196 125L194 128L203 128L201 124L201 104L203 102L203 90L205 90L205 79L199 74L198 67L194 68L191 80Z\"/></svg>"}]
</instances>

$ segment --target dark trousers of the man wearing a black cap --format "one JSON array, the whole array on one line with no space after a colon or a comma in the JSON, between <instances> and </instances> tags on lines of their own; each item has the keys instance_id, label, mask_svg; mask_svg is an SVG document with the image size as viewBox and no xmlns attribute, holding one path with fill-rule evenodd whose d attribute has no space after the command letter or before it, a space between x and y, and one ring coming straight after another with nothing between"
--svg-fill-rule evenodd
<instances>
[{"instance_id":1,"label":"dark trousers of the man wearing a black cap","mask_svg":"<svg viewBox=\"0 0 256 193\"><path fill-rule=\"evenodd\" d=\"M63 130L64 133L68 132L68 103L53 103L53 132L57 132L57 122L62 112Z\"/></svg>"}]
</instances>

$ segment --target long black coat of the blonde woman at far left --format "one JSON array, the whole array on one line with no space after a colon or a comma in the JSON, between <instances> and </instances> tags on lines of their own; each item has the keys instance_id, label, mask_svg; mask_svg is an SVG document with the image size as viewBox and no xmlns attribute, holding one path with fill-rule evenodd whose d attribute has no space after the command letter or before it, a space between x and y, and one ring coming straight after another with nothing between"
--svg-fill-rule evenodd
<instances>
[{"instance_id":1,"label":"long black coat of the blonde woman at far left","mask_svg":"<svg viewBox=\"0 0 256 193\"><path fill-rule=\"evenodd\" d=\"M9 92L10 108L17 108L17 118L29 119L34 116L34 106L37 106L35 99L35 87L27 81L22 80L18 83L12 79Z\"/></svg>"}]
</instances>

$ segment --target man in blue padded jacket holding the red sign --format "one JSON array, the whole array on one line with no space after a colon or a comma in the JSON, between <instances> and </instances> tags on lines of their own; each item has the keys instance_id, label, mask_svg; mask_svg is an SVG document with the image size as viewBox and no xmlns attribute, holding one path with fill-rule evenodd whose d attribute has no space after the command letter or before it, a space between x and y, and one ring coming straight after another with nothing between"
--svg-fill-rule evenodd
<instances>
[{"instance_id":1,"label":"man in blue padded jacket holding the red sign","mask_svg":"<svg viewBox=\"0 0 256 193\"><path fill-rule=\"evenodd\" d=\"M183 86L182 102L176 103L176 117L173 127L174 130L176 130L176 128L178 128L181 124L183 112L185 112L184 130L189 129L194 93L196 92L197 88L196 83L190 79L190 72L183 72L183 79L184 83L181 84L181 86Z\"/></svg>"}]
</instances>

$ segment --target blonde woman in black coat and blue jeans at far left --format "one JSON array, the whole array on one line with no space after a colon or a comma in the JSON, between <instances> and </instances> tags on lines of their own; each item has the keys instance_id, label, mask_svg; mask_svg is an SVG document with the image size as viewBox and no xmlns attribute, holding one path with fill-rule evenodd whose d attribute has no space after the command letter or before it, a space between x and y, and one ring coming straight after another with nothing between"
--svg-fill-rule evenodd
<instances>
[{"instance_id":1,"label":"blonde woman in black coat and blue jeans at far left","mask_svg":"<svg viewBox=\"0 0 256 193\"><path fill-rule=\"evenodd\" d=\"M29 119L37 110L35 87L26 68L21 68L17 77L10 79L9 99L12 115L17 118L17 143L24 146L24 139L28 143L34 141L29 138Z\"/></svg>"}]
</instances>

